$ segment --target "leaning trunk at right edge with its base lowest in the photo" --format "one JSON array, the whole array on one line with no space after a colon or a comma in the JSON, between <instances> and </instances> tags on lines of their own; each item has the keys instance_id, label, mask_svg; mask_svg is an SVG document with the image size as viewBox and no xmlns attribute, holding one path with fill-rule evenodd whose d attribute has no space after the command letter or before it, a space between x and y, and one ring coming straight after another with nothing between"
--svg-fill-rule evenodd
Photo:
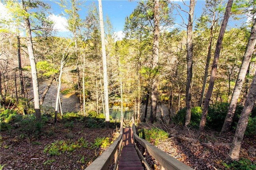
<instances>
[{"instance_id":1,"label":"leaning trunk at right edge with its base lowest in the photo","mask_svg":"<svg viewBox=\"0 0 256 170\"><path fill-rule=\"evenodd\" d=\"M248 118L252 111L255 101L256 101L256 74L254 75L254 78L252 80L252 84L244 105L244 109L242 110L242 113L240 115L240 118L236 127L236 133L231 144L231 148L228 154L229 156L227 158L228 162L230 162L230 160L238 160L239 158L241 142L244 138L244 132L248 124Z\"/></svg>"}]
</instances>

